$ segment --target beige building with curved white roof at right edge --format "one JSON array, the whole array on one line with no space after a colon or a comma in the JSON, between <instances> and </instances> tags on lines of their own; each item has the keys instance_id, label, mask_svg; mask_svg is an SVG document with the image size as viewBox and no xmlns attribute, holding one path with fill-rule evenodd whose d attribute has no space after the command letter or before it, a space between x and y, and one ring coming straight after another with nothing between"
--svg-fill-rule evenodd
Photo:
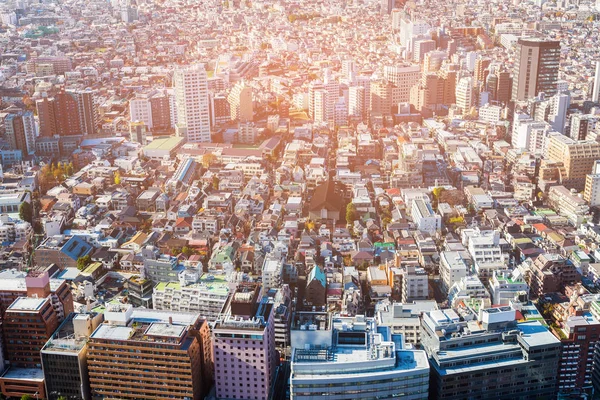
<instances>
[{"instance_id":1,"label":"beige building with curved white roof at right edge","mask_svg":"<svg viewBox=\"0 0 600 400\"><path fill-rule=\"evenodd\" d=\"M586 176L600 160L600 143L593 140L574 140L568 136L549 136L547 159L564 165L566 176L561 184L569 189L583 190Z\"/></svg>"}]
</instances>

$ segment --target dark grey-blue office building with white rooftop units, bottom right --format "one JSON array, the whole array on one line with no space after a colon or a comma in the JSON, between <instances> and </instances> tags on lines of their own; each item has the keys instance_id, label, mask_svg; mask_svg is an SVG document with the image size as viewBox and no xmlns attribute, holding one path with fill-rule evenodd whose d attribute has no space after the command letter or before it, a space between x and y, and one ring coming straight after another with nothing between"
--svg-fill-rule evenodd
<instances>
[{"instance_id":1,"label":"dark grey-blue office building with white rooftop units, bottom right","mask_svg":"<svg viewBox=\"0 0 600 400\"><path fill-rule=\"evenodd\" d=\"M561 344L509 306L437 310L423 316L431 399L554 398Z\"/></svg>"}]
</instances>

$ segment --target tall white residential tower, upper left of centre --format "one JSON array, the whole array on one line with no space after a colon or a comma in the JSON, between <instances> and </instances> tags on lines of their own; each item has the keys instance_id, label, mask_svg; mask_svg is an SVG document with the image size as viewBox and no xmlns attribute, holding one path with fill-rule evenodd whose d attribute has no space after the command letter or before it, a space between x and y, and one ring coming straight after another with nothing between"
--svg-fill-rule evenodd
<instances>
[{"instance_id":1,"label":"tall white residential tower, upper left of centre","mask_svg":"<svg viewBox=\"0 0 600 400\"><path fill-rule=\"evenodd\" d=\"M175 71L177 136L188 142L210 142L210 115L207 75L204 65L196 64Z\"/></svg>"}]
</instances>

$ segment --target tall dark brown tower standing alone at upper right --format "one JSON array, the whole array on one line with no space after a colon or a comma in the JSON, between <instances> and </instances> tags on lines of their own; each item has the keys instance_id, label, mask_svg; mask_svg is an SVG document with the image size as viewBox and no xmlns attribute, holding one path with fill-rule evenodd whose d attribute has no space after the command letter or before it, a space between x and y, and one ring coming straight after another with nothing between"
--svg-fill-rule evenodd
<instances>
[{"instance_id":1,"label":"tall dark brown tower standing alone at upper right","mask_svg":"<svg viewBox=\"0 0 600 400\"><path fill-rule=\"evenodd\" d=\"M525 101L540 93L554 96L557 92L560 42L521 38L517 42L513 101Z\"/></svg>"}]
</instances>

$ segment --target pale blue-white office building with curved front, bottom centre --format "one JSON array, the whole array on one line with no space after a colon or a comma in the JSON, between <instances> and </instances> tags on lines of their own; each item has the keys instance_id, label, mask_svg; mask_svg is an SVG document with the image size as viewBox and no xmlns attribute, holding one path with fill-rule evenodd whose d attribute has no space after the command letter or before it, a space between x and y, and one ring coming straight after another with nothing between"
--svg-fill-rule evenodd
<instances>
[{"instance_id":1,"label":"pale blue-white office building with curved front, bottom centre","mask_svg":"<svg viewBox=\"0 0 600 400\"><path fill-rule=\"evenodd\" d=\"M422 350L406 349L364 316L332 318L331 346L293 349L290 375L292 400L342 398L427 399L429 364Z\"/></svg>"}]
</instances>

